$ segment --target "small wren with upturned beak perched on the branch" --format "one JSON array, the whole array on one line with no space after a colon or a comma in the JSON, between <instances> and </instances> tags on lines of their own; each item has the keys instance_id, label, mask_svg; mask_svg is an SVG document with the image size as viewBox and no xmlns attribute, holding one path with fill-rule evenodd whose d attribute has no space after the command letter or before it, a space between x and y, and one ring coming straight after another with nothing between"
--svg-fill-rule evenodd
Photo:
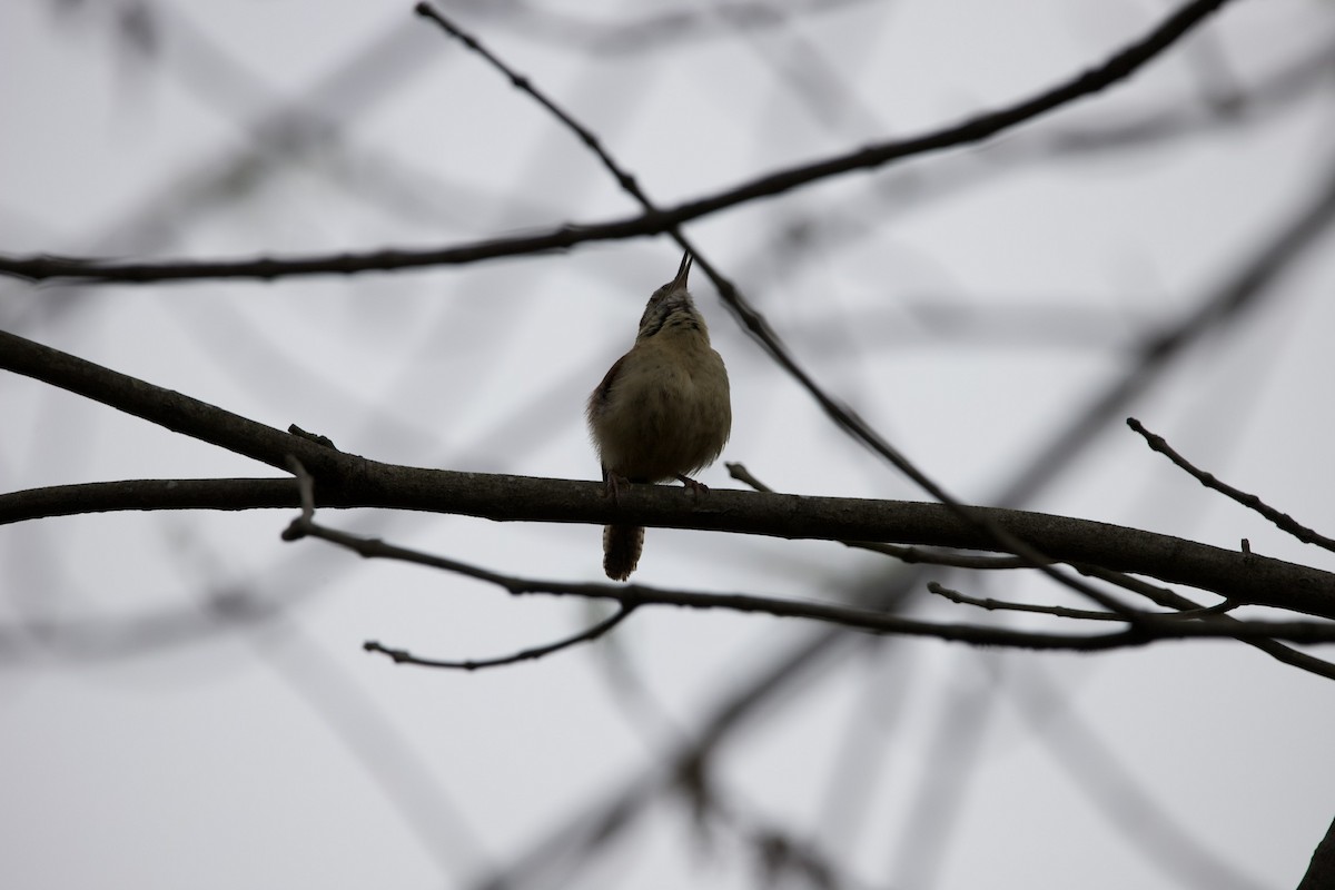
<instances>
[{"instance_id":1,"label":"small wren with upturned beak perched on the branch","mask_svg":"<svg viewBox=\"0 0 1335 890\"><path fill-rule=\"evenodd\" d=\"M613 498L621 484L669 479L708 494L686 474L713 463L732 431L728 370L686 290L690 263L682 256L677 278L649 298L635 344L589 396L589 431ZM643 546L641 527L603 527L607 578L630 578Z\"/></svg>"}]
</instances>

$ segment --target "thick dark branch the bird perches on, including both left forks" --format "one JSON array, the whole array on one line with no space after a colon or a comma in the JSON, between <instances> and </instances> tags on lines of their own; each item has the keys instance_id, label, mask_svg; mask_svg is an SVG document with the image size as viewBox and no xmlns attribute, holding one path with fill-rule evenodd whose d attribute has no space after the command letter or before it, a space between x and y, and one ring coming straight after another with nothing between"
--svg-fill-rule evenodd
<instances>
[{"instance_id":1,"label":"thick dark branch the bird perches on, including both left forks","mask_svg":"<svg viewBox=\"0 0 1335 890\"><path fill-rule=\"evenodd\" d=\"M996 539L984 527L967 522L944 504L720 490L697 502L682 498L676 488L655 486L634 486L619 503L613 503L602 496L602 486L593 482L384 464L320 444L308 434L275 430L5 331L0 331L0 368L77 392L284 471L295 458L315 476L319 506L423 510L499 522L622 522L790 539L886 540L997 550ZM96 510L239 510L299 503L292 479L95 483L3 495L0 523ZM1335 616L1335 575L1330 572L1105 523L987 507L971 512L1060 562L1149 575L1242 603Z\"/></svg>"}]
</instances>

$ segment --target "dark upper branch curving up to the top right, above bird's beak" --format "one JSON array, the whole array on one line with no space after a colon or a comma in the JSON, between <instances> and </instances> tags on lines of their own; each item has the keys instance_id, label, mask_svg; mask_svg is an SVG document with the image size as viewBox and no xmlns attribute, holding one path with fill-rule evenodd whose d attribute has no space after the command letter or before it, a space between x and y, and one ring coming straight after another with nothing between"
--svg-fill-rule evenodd
<instances>
[{"instance_id":1,"label":"dark upper branch curving up to the top right, above bird's beak","mask_svg":"<svg viewBox=\"0 0 1335 890\"><path fill-rule=\"evenodd\" d=\"M825 160L802 164L760 176L733 188L686 201L661 212L645 212L591 226L562 226L557 230L521 238L475 242L435 250L391 250L364 254L339 254L286 259L243 260L167 260L156 263L100 262L72 256L0 256L0 275L29 280L55 278L84 282L168 282L222 278L275 279L291 275L318 275L364 271L390 271L425 266L477 263L479 260L521 254L538 254L569 248L583 242L617 240L655 235L690 220L709 216L761 197L772 197L809 183L833 176L874 169L892 160L922 155L944 148L969 145L991 139L1055 108L1107 89L1133 75L1144 64L1171 47L1228 0L1193 0L1184 4L1140 40L1125 47L1108 61L1081 72L1065 83L1027 100L997 111L977 115L959 124L943 127L910 139L878 143Z\"/></svg>"}]
</instances>

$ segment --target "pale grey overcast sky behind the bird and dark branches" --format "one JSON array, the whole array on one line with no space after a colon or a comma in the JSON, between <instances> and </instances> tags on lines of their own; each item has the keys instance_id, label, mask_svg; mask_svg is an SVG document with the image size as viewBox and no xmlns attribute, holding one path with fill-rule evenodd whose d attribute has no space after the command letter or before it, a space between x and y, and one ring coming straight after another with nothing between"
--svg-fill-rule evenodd
<instances>
[{"instance_id":1,"label":"pale grey overcast sky behind the bird and dark branches","mask_svg":"<svg viewBox=\"0 0 1335 890\"><path fill-rule=\"evenodd\" d=\"M1175 5L441 8L672 205L1013 104ZM1235 0L1128 81L995 140L686 232L822 386L961 500L1247 538L1332 568L1123 423L1335 535L1328 234L1077 451L1045 456L1147 338L1235 282L1335 175L1332 63L1331 3ZM638 209L410 3L7 0L0 115L0 254L323 255ZM0 327L378 460L595 479L583 400L678 259L659 236L274 283L5 280ZM722 466L741 462L786 492L925 498L693 284L733 387L733 435L704 482L741 487ZM0 416L5 491L278 475L12 375ZM1037 482L1020 494L1021 478ZM773 886L753 842L774 830L848 887L1288 887L1335 815L1335 686L1239 643L1076 656L845 634L760 703L746 690L826 628L647 610L542 660L430 671L362 643L487 658L607 612L284 543L291 518L0 528L4 886L475 887L497 871L515 887ZM587 526L320 519L602 579ZM842 602L904 571L834 543L649 530L635 580ZM1036 576L943 570L914 576L905 606L937 620L1053 627L933 600L930 579L1085 606ZM730 821L701 826L654 783L737 701L757 703L710 773ZM609 821L634 789L650 802ZM591 851L573 839L589 818L610 825Z\"/></svg>"}]
</instances>

